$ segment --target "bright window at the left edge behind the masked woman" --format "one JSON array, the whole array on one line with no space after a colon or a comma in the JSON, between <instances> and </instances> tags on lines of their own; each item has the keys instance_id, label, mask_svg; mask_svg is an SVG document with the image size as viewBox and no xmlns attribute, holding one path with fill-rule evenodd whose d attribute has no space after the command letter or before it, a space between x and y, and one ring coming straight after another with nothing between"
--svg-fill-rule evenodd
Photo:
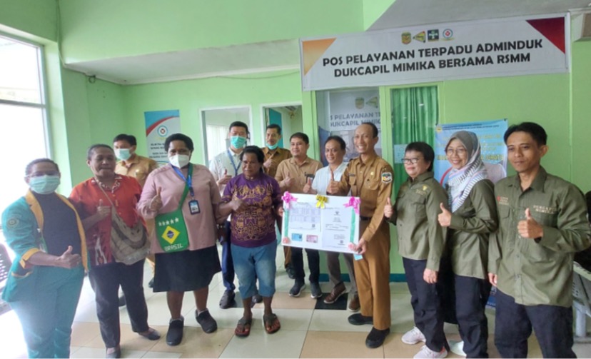
<instances>
[{"instance_id":1,"label":"bright window at the left edge behind the masked woman","mask_svg":"<svg viewBox=\"0 0 591 359\"><path fill-rule=\"evenodd\" d=\"M0 36L0 211L26 192L26 164L49 156L41 54L40 46Z\"/></svg>"}]
</instances>

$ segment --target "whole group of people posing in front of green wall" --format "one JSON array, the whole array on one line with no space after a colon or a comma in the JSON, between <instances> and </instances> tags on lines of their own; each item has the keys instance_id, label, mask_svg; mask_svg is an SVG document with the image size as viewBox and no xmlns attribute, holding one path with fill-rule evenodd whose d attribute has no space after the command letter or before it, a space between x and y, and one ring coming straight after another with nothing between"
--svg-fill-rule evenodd
<instances>
[{"instance_id":1,"label":"whole group of people posing in front of green wall","mask_svg":"<svg viewBox=\"0 0 591 359\"><path fill-rule=\"evenodd\" d=\"M266 332L281 323L272 309L276 291L276 227L281 228L283 193L318 193L360 198L360 238L355 258L344 253L350 277L348 317L372 325L369 348L390 333L390 227L411 294L415 327L403 343L425 345L415 358L445 358L450 346L443 323L459 326L469 358L488 358L485 304L497 287L495 345L504 358L525 358L535 331L546 358L572 358L572 258L591 245L587 208L580 190L540 165L547 135L536 123L510 126L508 160L517 175L492 183L475 133L454 133L445 153L452 166L443 187L433 178L433 148L409 143L403 165L408 180L391 201L393 168L375 152L378 128L362 123L353 142L359 153L343 163L345 141L324 143L328 166L309 158L309 139L294 133L289 151L278 146L281 128L266 128L266 146L246 146L243 122L229 126L229 146L209 166L191 163L193 141L166 138L169 163L157 167L138 156L136 138L118 135L113 148L91 146L93 176L69 198L56 193L57 163L41 158L26 166L29 191L2 215L6 242L16 253L4 299L23 325L31 358L67 358L76 304L85 270L96 295L96 311L107 358L119 358L118 290L126 298L132 330L148 340L160 334L148 325L143 295L146 256L151 285L166 292L171 314L166 343L183 339L183 295L192 291L196 321L217 329L207 308L208 285L222 272L221 308L236 298L243 315L234 333L249 335L254 303L263 303ZM117 162L116 159L119 161ZM221 261L216 242L222 246ZM305 288L303 251L283 247L289 291ZM320 253L308 256L312 298L322 298ZM324 302L345 294L339 253L326 252L332 289ZM44 300L39 302L39 295ZM552 325L549 325L549 324Z\"/></svg>"}]
</instances>

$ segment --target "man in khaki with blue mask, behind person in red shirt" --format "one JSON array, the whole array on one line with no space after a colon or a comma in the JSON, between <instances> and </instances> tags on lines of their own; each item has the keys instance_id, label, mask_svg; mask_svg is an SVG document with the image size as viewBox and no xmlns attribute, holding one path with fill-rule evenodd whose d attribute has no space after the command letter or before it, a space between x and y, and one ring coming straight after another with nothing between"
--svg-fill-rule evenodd
<instances>
[{"instance_id":1,"label":"man in khaki with blue mask, behind person in red shirt","mask_svg":"<svg viewBox=\"0 0 591 359\"><path fill-rule=\"evenodd\" d=\"M115 173L136 178L140 186L143 188L144 183L146 183L146 178L148 178L151 171L158 168L158 163L152 158L136 154L137 146L138 142L136 136L120 133L113 138L113 150L115 151L115 156L119 160L115 165ZM154 229L154 221L146 220L146 228L148 228L148 233L151 233ZM154 255L148 254L146 259L152 267L152 279L148 283L148 287L152 288L152 285L154 284ZM122 298L123 297L119 298L120 305L125 303L125 300Z\"/></svg>"}]
</instances>

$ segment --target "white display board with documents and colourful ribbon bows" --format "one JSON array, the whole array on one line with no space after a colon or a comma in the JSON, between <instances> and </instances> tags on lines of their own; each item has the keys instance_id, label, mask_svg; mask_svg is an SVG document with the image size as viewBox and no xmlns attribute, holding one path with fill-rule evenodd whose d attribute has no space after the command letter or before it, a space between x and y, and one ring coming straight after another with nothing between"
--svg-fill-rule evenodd
<instances>
[{"instance_id":1,"label":"white display board with documents and colourful ribbon bows","mask_svg":"<svg viewBox=\"0 0 591 359\"><path fill-rule=\"evenodd\" d=\"M358 197L283 193L284 246L354 253L359 241Z\"/></svg>"}]
</instances>

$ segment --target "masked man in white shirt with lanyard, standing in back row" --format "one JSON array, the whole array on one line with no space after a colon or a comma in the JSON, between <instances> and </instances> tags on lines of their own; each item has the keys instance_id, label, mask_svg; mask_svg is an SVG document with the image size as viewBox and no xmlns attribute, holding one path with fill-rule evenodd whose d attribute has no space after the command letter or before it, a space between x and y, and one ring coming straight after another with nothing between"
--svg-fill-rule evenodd
<instances>
[{"instance_id":1,"label":"masked man in white shirt with lanyard, standing in back row","mask_svg":"<svg viewBox=\"0 0 591 359\"><path fill-rule=\"evenodd\" d=\"M234 121L230 124L228 131L230 147L226 149L226 151L219 153L209 162L209 171L211 171L213 178L215 178L218 183L220 194L223 194L223 190L226 188L226 183L230 181L230 178L242 173L240 155L250 136L251 133L248 132L248 126L246 123ZM230 238L230 221L228 218L228 221L226 221L226 235L223 240L220 239L222 245L222 279L223 286L226 288L220 300L220 308L222 309L230 308L236 296L234 293L236 285L234 285L234 264L232 262L232 253L230 251ZM253 302L258 303L256 302L256 298L253 298Z\"/></svg>"}]
</instances>

